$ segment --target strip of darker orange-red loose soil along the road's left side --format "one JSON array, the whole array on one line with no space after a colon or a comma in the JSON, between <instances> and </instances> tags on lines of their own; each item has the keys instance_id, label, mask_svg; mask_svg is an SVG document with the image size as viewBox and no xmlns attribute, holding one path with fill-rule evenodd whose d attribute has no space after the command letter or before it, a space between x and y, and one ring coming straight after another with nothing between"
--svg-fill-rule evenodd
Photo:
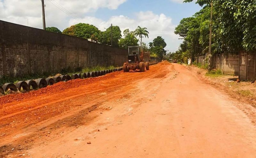
<instances>
[{"instance_id":1,"label":"strip of darker orange-red loose soil along the road's left side","mask_svg":"<svg viewBox=\"0 0 256 158\"><path fill-rule=\"evenodd\" d=\"M91 105L93 102L97 100L103 100L103 101L109 100L112 98L111 96L103 97L99 95L99 92L106 91L109 94L110 92L116 91L121 87L125 87L125 86L127 86L125 89L129 90L129 88L131 88L130 86L131 84L134 84L141 79L154 78L158 74L163 74L163 73L167 74L166 70L159 71L161 69L160 68L161 66L163 66L163 64L151 66L150 67L151 70L144 73L114 72L113 73L114 75L111 76L110 79L107 77L107 79L104 80L104 77L101 77L102 80L100 80L100 83L95 82L95 83L91 83L90 85L84 85L77 88L70 88L66 92L61 91L61 94L64 94L64 95L69 94L67 95L67 97L63 99L60 99L60 97L56 98L57 97L56 95L58 94L54 96L47 96L46 98L42 97L37 99L38 97L40 97L39 95L34 97L35 100L32 100L32 101L28 100L27 102L25 102L23 100L22 102L25 102L25 103L17 104L17 102L14 102L13 103L14 105L12 105L12 102L8 103L7 107L0 109L0 113L2 112L2 114L3 114L3 111L5 111L6 113L7 108L10 107L11 109L9 110L10 112L8 115L4 115L0 119L1 120L0 134L5 133L4 136L7 136L11 133L15 133L15 132L11 132L11 133L8 132L9 129L12 129L11 131L15 131L16 129L28 127L38 122L47 120L52 116L60 115L65 111L68 111L69 109L72 109L72 110L81 109L81 108L87 107L87 104ZM132 82L130 82L129 80L131 80ZM108 84L109 82L111 84ZM97 85L104 85L104 84L107 86L96 91L90 91L92 87L97 87ZM74 89L77 89L76 91L78 91L79 93L79 91L83 90L85 87L87 87L87 91L85 91L84 93L82 94L74 93ZM122 96L122 94L120 96ZM87 99L84 99L84 97L87 97ZM45 100L45 99L49 99L50 101L48 103L44 103L42 100ZM73 100L78 100L78 101L74 102ZM83 101L83 104L81 104L80 100L86 100L86 101ZM39 102L39 104L37 102ZM60 105L58 104L62 104L62 105L64 104L64 106L60 108ZM22 110L23 108L27 108L27 110Z\"/></svg>"}]
</instances>

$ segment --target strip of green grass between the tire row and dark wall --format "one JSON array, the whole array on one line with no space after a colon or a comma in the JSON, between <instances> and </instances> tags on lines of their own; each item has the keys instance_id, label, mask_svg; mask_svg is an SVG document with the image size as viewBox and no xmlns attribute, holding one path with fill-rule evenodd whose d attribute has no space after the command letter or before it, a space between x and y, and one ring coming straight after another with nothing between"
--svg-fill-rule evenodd
<instances>
[{"instance_id":1,"label":"strip of green grass between the tire row and dark wall","mask_svg":"<svg viewBox=\"0 0 256 158\"><path fill-rule=\"evenodd\" d=\"M84 73L84 72L91 72L91 71L100 71L100 70L110 70L114 69L115 66L94 66L94 67L86 67L86 68L77 68L76 70L72 70L71 68L63 69L60 74L68 74L72 75L74 73ZM44 74L30 74L25 75L22 77L7 77L3 76L0 79L0 85L3 85L5 83L17 83L18 81L26 81L29 79L39 79L39 78L47 78L47 77L53 77L57 73L44 73Z\"/></svg>"}]
</instances>

